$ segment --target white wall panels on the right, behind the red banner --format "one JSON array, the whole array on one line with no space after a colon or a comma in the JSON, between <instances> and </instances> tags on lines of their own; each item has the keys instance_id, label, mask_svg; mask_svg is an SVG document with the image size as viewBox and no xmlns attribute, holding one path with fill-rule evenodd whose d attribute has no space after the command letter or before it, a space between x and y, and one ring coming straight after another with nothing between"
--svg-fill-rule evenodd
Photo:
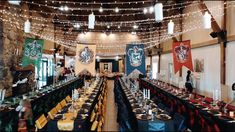
<instances>
[{"instance_id":1,"label":"white wall panels on the right, behind the red banner","mask_svg":"<svg viewBox=\"0 0 235 132\"><path fill-rule=\"evenodd\" d=\"M213 97L214 89L220 89L220 46L214 45L192 49L192 60L204 59L204 73L200 75L197 84L197 92L200 94ZM169 80L169 63L173 63L172 53L161 56L161 72L165 73L165 79ZM183 78L179 78L179 72L174 75L173 83L186 80L187 68L183 67Z\"/></svg>"}]
</instances>

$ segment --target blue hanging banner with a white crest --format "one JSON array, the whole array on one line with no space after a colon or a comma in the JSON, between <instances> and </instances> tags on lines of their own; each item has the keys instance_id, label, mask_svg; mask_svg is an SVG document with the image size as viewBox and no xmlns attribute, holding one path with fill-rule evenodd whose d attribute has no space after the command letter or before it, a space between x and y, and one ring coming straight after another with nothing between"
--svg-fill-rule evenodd
<instances>
[{"instance_id":1,"label":"blue hanging banner with a white crest","mask_svg":"<svg viewBox=\"0 0 235 132\"><path fill-rule=\"evenodd\" d=\"M143 44L128 44L126 46L126 75L130 74L146 75Z\"/></svg>"}]
</instances>

